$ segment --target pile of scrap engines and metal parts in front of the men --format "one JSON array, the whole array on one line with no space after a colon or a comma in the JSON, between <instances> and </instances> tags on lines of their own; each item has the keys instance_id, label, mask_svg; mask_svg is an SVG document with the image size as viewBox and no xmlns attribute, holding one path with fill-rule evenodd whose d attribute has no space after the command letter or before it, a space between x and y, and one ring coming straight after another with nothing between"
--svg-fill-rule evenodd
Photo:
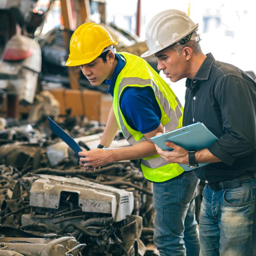
<instances>
[{"instance_id":1,"label":"pile of scrap engines and metal parts in front of the men","mask_svg":"<svg viewBox=\"0 0 256 256\"><path fill-rule=\"evenodd\" d=\"M5 120L0 132L0 256L155 255L144 245L153 235L152 188L138 163L85 171L44 120ZM75 117L58 124L87 150L104 128Z\"/></svg>"}]
</instances>

